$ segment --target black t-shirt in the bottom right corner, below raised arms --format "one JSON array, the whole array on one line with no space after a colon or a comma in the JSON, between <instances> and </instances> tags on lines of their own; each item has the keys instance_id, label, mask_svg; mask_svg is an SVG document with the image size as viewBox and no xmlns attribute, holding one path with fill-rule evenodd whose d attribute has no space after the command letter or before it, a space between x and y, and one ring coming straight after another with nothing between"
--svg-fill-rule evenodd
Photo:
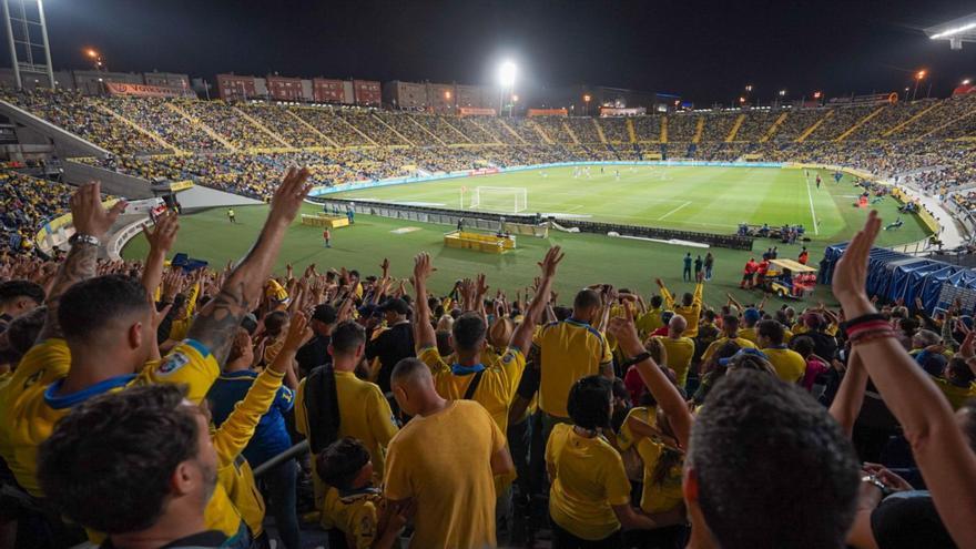
<instances>
[{"instance_id":1,"label":"black t-shirt in the bottom right corner, below raised arms","mask_svg":"<svg viewBox=\"0 0 976 549\"><path fill-rule=\"evenodd\" d=\"M896 494L871 514L871 531L881 549L941 549L956 545L928 492Z\"/></svg>"}]
</instances>

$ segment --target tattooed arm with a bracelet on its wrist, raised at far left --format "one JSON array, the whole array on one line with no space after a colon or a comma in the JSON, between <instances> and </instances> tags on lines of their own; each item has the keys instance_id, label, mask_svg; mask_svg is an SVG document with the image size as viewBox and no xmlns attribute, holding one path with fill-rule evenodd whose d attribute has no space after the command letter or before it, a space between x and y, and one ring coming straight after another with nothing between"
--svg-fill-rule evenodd
<instances>
[{"instance_id":1,"label":"tattooed arm with a bracelet on its wrist, raised at far left","mask_svg":"<svg viewBox=\"0 0 976 549\"><path fill-rule=\"evenodd\" d=\"M71 196L71 217L75 234L94 236L100 241L105 237L109 228L112 227L123 210L125 210L125 203L122 201L116 202L111 210L105 210L102 206L101 184L98 182L78 187L78 191ZM61 302L61 296L71 286L95 275L98 253L99 247L88 242L75 242L71 246L71 251L68 252L68 256L54 275L54 282L44 302L48 306L48 316L38 335L39 342L52 337L64 337L61 326L58 324L58 305Z\"/></svg>"}]
</instances>

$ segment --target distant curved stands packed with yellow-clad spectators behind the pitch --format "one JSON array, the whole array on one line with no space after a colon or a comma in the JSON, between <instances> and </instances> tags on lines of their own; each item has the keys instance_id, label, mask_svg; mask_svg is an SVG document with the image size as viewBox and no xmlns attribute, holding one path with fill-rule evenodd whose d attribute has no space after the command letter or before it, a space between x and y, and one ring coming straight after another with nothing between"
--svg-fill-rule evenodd
<instances>
[{"instance_id":1,"label":"distant curved stands packed with yellow-clad spectators behind the pitch","mask_svg":"<svg viewBox=\"0 0 976 549\"><path fill-rule=\"evenodd\" d=\"M628 119L455 118L221 101L90 98L43 90L7 92L4 96L116 153L104 165L150 180L191 179L261 199L273 193L261 173L277 170L282 161L293 157L305 159L304 163L313 166L316 183L326 185L408 175L410 170L405 166L439 172L550 161L644 160L644 153L651 159L660 154L664 159L734 161L749 155L765 161L842 164L911 181L944 196L976 179L972 141L945 141L972 136L976 131L974 94L885 105L698 111ZM803 142L797 142L811 129ZM730 135L732 142L724 143ZM174 157L173 153L191 154ZM968 193L953 197L969 209L973 199Z\"/></svg>"}]
</instances>

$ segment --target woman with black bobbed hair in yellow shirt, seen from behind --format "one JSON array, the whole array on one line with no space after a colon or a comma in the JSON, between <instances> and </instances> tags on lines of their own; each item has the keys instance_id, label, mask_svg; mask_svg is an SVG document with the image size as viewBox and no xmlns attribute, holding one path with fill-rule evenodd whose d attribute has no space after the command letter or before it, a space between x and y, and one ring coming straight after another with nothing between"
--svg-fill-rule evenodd
<instances>
[{"instance_id":1,"label":"woman with black bobbed hair in yellow shirt, seen from behind","mask_svg":"<svg viewBox=\"0 0 976 549\"><path fill-rule=\"evenodd\" d=\"M630 506L623 460L603 438L613 413L611 388L602 376L573 384L567 406L572 425L556 425L546 446L553 549L622 547L621 528L660 526Z\"/></svg>"}]
</instances>

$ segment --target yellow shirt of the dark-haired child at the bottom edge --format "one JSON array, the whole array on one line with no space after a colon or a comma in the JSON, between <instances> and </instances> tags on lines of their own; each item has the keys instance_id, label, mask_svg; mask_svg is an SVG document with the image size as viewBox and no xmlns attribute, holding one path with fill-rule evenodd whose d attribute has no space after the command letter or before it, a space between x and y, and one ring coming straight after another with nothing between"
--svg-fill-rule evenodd
<instances>
[{"instance_id":1,"label":"yellow shirt of the dark-haired child at the bottom edge","mask_svg":"<svg viewBox=\"0 0 976 549\"><path fill-rule=\"evenodd\" d=\"M346 543L355 549L369 549L377 536L377 516L383 495L375 488L339 494L329 488L322 508L322 526L338 528L346 535Z\"/></svg>"}]
</instances>

